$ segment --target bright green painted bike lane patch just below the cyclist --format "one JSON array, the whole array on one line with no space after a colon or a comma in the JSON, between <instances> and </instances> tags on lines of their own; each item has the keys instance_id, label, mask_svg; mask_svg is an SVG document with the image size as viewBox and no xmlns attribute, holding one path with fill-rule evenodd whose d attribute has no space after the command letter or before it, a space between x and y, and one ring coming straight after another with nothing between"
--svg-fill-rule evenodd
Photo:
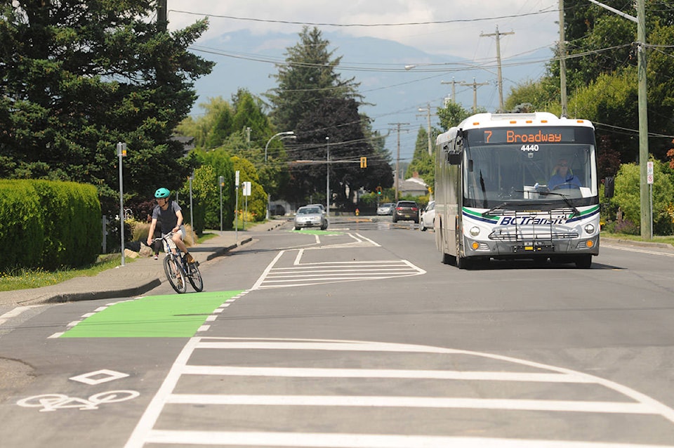
<instances>
[{"instance_id":1,"label":"bright green painted bike lane patch just below the cyclist","mask_svg":"<svg viewBox=\"0 0 674 448\"><path fill-rule=\"evenodd\" d=\"M147 296L86 317L60 338L191 338L213 311L242 291Z\"/></svg>"}]
</instances>

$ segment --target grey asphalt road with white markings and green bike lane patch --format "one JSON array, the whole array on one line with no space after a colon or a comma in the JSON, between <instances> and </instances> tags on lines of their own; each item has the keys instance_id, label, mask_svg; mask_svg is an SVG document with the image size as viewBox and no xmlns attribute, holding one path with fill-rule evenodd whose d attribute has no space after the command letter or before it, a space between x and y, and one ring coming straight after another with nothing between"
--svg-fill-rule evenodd
<instances>
[{"instance_id":1,"label":"grey asphalt road with white markings and green bike lane patch","mask_svg":"<svg viewBox=\"0 0 674 448\"><path fill-rule=\"evenodd\" d=\"M411 223L289 230L201 294L32 310L1 446L674 446L674 253L457 270Z\"/></svg>"}]
</instances>

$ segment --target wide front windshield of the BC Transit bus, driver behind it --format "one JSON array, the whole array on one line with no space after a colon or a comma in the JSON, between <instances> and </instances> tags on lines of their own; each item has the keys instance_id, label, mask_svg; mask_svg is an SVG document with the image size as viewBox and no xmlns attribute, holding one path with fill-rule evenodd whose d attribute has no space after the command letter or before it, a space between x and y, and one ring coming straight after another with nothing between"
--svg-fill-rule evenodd
<instances>
[{"instance_id":1,"label":"wide front windshield of the BC Transit bus, driver behind it","mask_svg":"<svg viewBox=\"0 0 674 448\"><path fill-rule=\"evenodd\" d=\"M538 129L530 131L529 141L498 138L498 131L466 131L465 205L491 208L503 202L521 202L542 206L569 200L576 206L598 203L593 133L567 128L562 141L549 142L532 138Z\"/></svg>"}]
</instances>

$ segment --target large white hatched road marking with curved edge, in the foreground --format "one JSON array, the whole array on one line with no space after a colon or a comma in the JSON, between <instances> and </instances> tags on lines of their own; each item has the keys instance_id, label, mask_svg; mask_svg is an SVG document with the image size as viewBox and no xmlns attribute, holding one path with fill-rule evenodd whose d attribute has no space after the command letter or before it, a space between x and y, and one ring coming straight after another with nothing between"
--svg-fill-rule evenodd
<instances>
[{"instance_id":1,"label":"large white hatched road marking with curved edge, in the foreground","mask_svg":"<svg viewBox=\"0 0 674 448\"><path fill-rule=\"evenodd\" d=\"M435 353L451 357L469 357L471 364L485 361L503 361L512 363L513 371L444 371L409 369L329 369L303 367L247 367L247 366L209 366L188 364L197 350L329 350L329 351L369 351L390 353ZM194 357L194 359L204 357ZM227 359L236 359L228 355ZM289 359L286 357L286 359ZM451 364L451 360L448 360ZM506 366L508 364L505 364ZM521 381L536 383L580 383L597 388L607 388L621 394L616 401L591 400L531 400L518 397L454 397L451 388L448 396L399 396L395 388L392 395L242 395L242 394L203 394L175 393L176 386L183 375L201 375L204 383L207 376L265 376L293 378L428 378L459 381ZM220 383L220 381L218 381ZM315 381L310 384L316 385ZM315 390L312 389L312 390ZM600 394L601 396L601 394ZM621 400L622 398L622 400ZM492 355L489 353L455 350L451 348L425 345L376 343L367 341L331 341L303 339L271 338L192 338L185 345L178 359L171 367L159 392L140 419L138 426L129 438L126 448L143 447L145 444L202 444L202 445L264 445L270 447L559 447L559 448L618 448L618 447L659 447L665 445L630 444L628 442L602 442L582 440L535 440L527 438L526 427L522 437L515 435L508 439L493 437L452 437L451 435L388 435L388 434L352 434L352 433L275 433L275 432L238 432L238 431L193 431L190 428L155 430L164 406L180 405L254 405L265 407L312 406L312 407L358 407L381 409L388 407L399 409L492 409L508 411L574 412L594 414L652 415L663 417L674 423L674 410L635 390L612 381L581 372L553 367L537 362L517 360L513 357ZM175 412L176 409L172 409ZM219 426L221 428L221 426ZM487 434L485 434L487 435ZM669 446L672 448L672 446Z\"/></svg>"}]
</instances>

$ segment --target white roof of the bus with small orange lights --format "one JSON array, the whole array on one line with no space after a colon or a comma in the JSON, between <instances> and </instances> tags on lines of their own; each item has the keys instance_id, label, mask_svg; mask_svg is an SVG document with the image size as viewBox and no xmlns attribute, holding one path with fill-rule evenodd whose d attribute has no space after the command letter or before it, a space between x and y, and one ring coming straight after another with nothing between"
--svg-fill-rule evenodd
<instances>
[{"instance_id":1,"label":"white roof of the bus with small orange lights","mask_svg":"<svg viewBox=\"0 0 674 448\"><path fill-rule=\"evenodd\" d=\"M480 128L498 128L506 126L586 126L595 129L591 121L586 119L575 119L567 117L557 117L550 112L531 112L528 114L475 114L461 121L458 126L454 126L445 133L437 136L436 145L448 142L456 137L458 129L480 129Z\"/></svg>"}]
</instances>

